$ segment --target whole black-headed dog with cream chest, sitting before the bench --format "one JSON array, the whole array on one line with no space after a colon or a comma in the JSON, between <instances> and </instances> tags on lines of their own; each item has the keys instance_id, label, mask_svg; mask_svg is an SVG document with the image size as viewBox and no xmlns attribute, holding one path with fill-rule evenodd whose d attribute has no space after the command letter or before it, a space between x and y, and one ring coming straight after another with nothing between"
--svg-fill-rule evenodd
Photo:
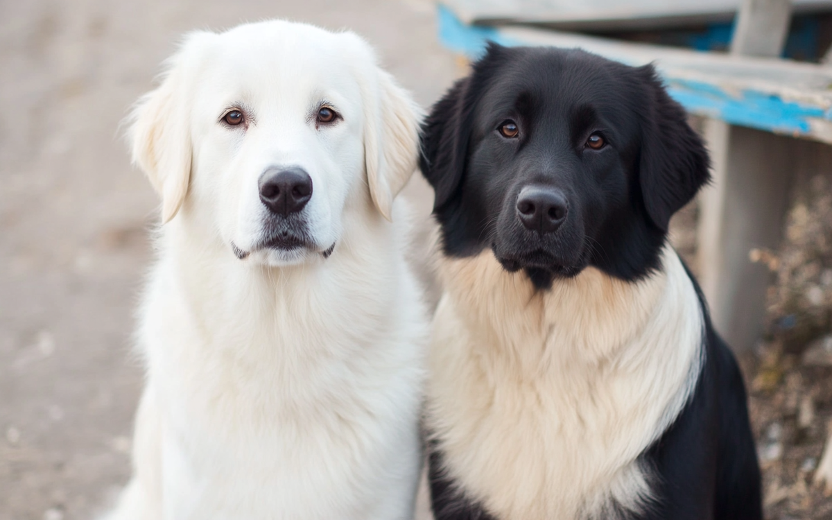
<instances>
[{"instance_id":1,"label":"whole black-headed dog with cream chest, sitting before the bench","mask_svg":"<svg viewBox=\"0 0 832 520\"><path fill-rule=\"evenodd\" d=\"M492 45L422 147L436 518L761 518L740 371L667 244L709 161L654 69Z\"/></svg>"}]
</instances>

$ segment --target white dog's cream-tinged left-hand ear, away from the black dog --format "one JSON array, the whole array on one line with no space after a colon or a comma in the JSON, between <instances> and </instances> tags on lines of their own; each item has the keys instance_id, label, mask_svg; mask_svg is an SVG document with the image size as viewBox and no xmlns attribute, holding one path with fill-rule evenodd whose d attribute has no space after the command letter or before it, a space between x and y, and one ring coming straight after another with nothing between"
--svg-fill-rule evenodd
<instances>
[{"instance_id":1,"label":"white dog's cream-tinged left-hand ear, away from the black dog","mask_svg":"<svg viewBox=\"0 0 832 520\"><path fill-rule=\"evenodd\" d=\"M162 224L176 216L188 192L192 152L190 97L197 67L193 55L213 36L210 32L188 35L179 52L166 62L161 85L139 99L129 118L133 163L145 172L161 196Z\"/></svg>"}]
</instances>

